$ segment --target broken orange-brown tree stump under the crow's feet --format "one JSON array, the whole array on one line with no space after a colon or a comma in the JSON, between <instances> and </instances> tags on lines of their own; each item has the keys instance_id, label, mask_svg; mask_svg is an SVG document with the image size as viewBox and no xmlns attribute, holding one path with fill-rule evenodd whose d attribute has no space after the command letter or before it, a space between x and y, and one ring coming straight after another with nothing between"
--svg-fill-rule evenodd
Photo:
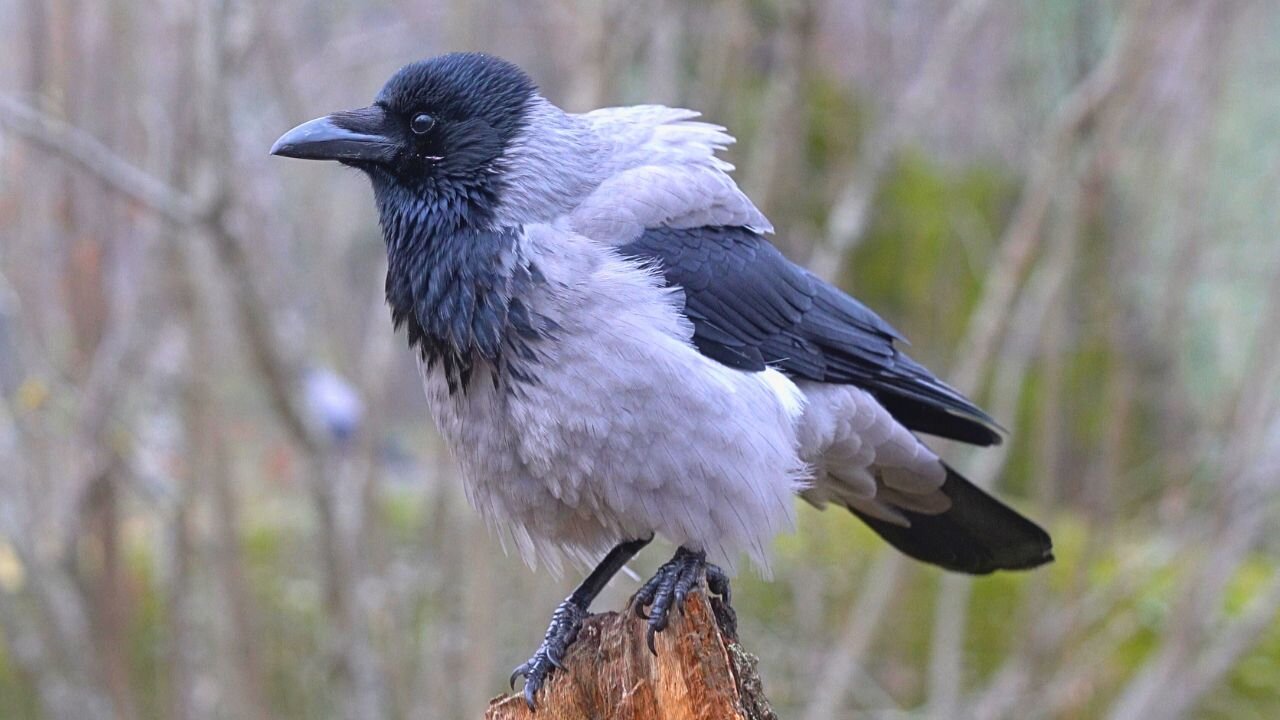
<instances>
[{"instance_id":1,"label":"broken orange-brown tree stump under the crow's feet","mask_svg":"<svg viewBox=\"0 0 1280 720\"><path fill-rule=\"evenodd\" d=\"M684 614L673 610L658 633L657 656L631 602L586 619L566 669L538 693L536 711L518 693L503 694L489 702L485 720L777 720L721 598L708 601L705 588L691 593Z\"/></svg>"}]
</instances>

